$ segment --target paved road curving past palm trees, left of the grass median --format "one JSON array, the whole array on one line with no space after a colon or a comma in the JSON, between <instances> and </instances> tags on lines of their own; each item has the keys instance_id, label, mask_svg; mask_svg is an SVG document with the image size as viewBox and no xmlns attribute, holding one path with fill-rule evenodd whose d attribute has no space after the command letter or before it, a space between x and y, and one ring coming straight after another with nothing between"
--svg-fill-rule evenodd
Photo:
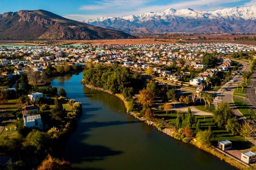
<instances>
[{"instance_id":1,"label":"paved road curving past palm trees, left of the grass median","mask_svg":"<svg viewBox=\"0 0 256 170\"><path fill-rule=\"evenodd\" d=\"M241 71L249 71L250 65L247 65L246 62L239 61L241 65L243 65ZM242 78L239 75L236 75L233 78L233 81L228 81L226 84L224 84L218 91L217 95L215 97L214 102L221 102L225 101L230 104L230 108L233 108L234 113L236 114L236 117L238 119L244 119L244 116L236 109L236 106L233 103L233 91L237 88L237 83L242 82ZM226 91L226 88L229 88L230 91Z\"/></svg>"}]
</instances>

